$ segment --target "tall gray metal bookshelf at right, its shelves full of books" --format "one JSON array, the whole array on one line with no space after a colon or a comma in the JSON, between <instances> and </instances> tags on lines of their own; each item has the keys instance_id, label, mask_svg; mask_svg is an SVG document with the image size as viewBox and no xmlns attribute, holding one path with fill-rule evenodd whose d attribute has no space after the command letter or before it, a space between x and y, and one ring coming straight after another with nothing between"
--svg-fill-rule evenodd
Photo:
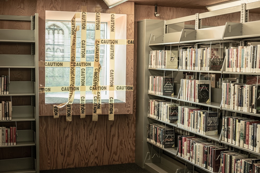
<instances>
[{"instance_id":1,"label":"tall gray metal bookshelf at right, its shelves full of books","mask_svg":"<svg viewBox=\"0 0 260 173\"><path fill-rule=\"evenodd\" d=\"M260 114L254 112L245 112L239 109L226 108L222 104L223 88L210 88L211 101L210 102L194 102L188 99L180 99L181 79L186 73L193 73L194 79L199 79L200 74L215 74L216 80L218 78L232 77L237 78L239 83L246 84L247 76L259 76L260 73L257 70L250 71L227 71L228 56L224 50L230 49L230 47L238 46L250 46L258 45L260 40L260 32L256 28L259 24L259 20L248 22L248 16L241 15L241 22L229 22L226 21L223 26L201 26L201 19L224 15L228 13L248 13L251 9L257 9L260 7L260 2L254 2L249 4L241 4L235 8L229 8L225 10L217 10L212 12L205 12L201 14L195 14L192 16L176 18L171 20L150 20L145 19L138 21L138 50L137 50L137 99L136 99L136 152L135 162L148 169L151 172L174 172L178 170L194 170L198 172L213 172L203 166L200 166L191 160L178 155L178 135L196 136L206 141L210 141L215 145L223 146L226 150L234 150L245 155L254 155L259 158L260 153L249 148L237 146L232 142L225 141L224 136L224 120L223 117L232 115L237 117L248 117L249 119L259 120ZM185 25L184 22L195 20L195 25ZM164 69L164 68L150 68L149 59L150 52L153 50L178 50L192 47L193 49L200 49L208 47L217 47L223 50L223 64L222 68L217 71L209 71L208 69L194 68L187 70L183 69L181 62L183 56L179 52L179 68L178 69ZM247 49L247 48L246 48ZM165 96L154 93L149 93L149 76L170 76L174 78L174 95ZM217 81L215 83L217 84ZM253 92L252 92L253 93ZM255 93L256 94L256 93ZM233 96L234 97L234 96ZM255 97L253 96L252 98ZM196 106L198 108L217 111L218 115L218 133L215 135L204 135L202 133L194 132L191 128L182 127L180 120L177 123L168 123L149 116L149 100L165 100L178 103L180 106ZM225 114L225 113L229 114ZM221 113L221 114L220 114ZM174 128L176 132L176 143L173 148L162 148L147 140L147 124L160 124L170 128ZM182 164L180 164L182 163ZM214 171L215 172L215 171ZM217 171L216 171L217 172Z\"/></svg>"}]
</instances>

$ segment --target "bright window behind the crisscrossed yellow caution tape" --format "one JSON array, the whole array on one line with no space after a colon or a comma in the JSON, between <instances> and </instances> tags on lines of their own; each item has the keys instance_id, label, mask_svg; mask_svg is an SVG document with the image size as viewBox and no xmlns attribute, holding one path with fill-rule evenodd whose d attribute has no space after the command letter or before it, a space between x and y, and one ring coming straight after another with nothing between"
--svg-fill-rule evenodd
<instances>
[{"instance_id":1,"label":"bright window behind the crisscrossed yellow caution tape","mask_svg":"<svg viewBox=\"0 0 260 173\"><path fill-rule=\"evenodd\" d=\"M75 12L46 11L45 61L70 61L70 32ZM86 61L94 61L95 13L87 13ZM80 19L79 19L80 20ZM76 25L81 22L76 19ZM126 15L117 15L117 39L126 39ZM123 22L122 22L123 21ZM100 38L109 38L109 14L101 13ZM76 61L80 62L81 29L77 31ZM115 85L126 85L126 45L115 45ZM100 85L109 85L109 45L100 45ZM86 86L92 86L93 67L86 67ZM80 67L76 67L76 86L80 86ZM69 67L45 67L45 87L69 86ZM69 92L46 92L45 103L68 101ZM125 91L115 91L115 102L125 102ZM101 101L108 102L109 92L101 91ZM79 103L80 92L75 92L74 103ZM86 91L86 101L92 103L91 91Z\"/></svg>"}]
</instances>

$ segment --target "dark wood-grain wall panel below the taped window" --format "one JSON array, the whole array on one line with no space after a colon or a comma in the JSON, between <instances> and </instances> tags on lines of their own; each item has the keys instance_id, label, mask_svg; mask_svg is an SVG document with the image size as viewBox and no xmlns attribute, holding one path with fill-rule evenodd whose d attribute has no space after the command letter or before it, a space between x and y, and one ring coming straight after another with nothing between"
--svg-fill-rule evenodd
<instances>
[{"instance_id":1,"label":"dark wood-grain wall panel below the taped window","mask_svg":"<svg viewBox=\"0 0 260 173\"><path fill-rule=\"evenodd\" d=\"M129 115L114 121L102 115L97 122L40 117L40 170L134 162L133 121Z\"/></svg>"}]
</instances>

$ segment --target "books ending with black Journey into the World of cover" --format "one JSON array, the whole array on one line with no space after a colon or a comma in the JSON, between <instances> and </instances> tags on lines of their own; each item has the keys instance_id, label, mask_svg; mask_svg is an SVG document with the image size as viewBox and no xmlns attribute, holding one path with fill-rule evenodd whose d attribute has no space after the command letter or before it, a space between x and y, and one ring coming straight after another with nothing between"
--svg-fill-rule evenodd
<instances>
[{"instance_id":1,"label":"books ending with black Journey into the World of cover","mask_svg":"<svg viewBox=\"0 0 260 173\"><path fill-rule=\"evenodd\" d=\"M149 76L148 93L159 95L174 95L174 78L164 76Z\"/></svg>"}]
</instances>

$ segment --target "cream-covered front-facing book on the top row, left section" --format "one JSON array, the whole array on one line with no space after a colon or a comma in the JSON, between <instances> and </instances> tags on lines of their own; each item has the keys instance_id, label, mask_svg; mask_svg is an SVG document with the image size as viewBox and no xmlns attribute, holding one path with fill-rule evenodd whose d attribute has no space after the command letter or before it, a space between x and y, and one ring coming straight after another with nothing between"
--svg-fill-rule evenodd
<instances>
[{"instance_id":1,"label":"cream-covered front-facing book on the top row, left section","mask_svg":"<svg viewBox=\"0 0 260 173\"><path fill-rule=\"evenodd\" d=\"M178 69L178 51L165 51L165 68Z\"/></svg>"}]
</instances>

